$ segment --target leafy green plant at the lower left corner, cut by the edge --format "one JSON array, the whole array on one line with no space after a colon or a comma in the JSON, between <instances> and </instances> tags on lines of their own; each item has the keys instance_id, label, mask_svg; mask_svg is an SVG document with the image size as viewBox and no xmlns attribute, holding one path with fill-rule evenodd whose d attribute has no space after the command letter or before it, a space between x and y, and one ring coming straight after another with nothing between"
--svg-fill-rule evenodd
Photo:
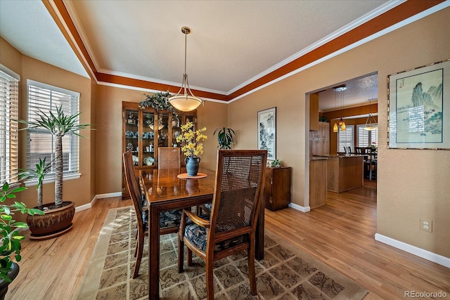
<instances>
[{"instance_id":1,"label":"leafy green plant at the lower left corner, cut by the edge","mask_svg":"<svg viewBox=\"0 0 450 300\"><path fill-rule=\"evenodd\" d=\"M6 199L15 198L15 194L25 190L25 187L10 190L7 182L1 185L0 191L0 299L3 300L8 285L19 273L18 261L22 259L20 249L25 237L18 233L19 228L28 228L27 223L13 219L16 211L21 214L44 214L39 209L29 209L23 202L15 201L13 204L3 204Z\"/></svg>"}]
</instances>

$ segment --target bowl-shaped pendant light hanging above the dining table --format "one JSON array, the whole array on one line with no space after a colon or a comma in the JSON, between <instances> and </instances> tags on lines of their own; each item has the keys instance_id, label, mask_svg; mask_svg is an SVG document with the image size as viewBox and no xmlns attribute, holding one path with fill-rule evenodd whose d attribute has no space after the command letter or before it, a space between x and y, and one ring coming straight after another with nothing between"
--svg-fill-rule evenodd
<instances>
[{"instance_id":1,"label":"bowl-shaped pendant light hanging above the dining table","mask_svg":"<svg viewBox=\"0 0 450 300\"><path fill-rule=\"evenodd\" d=\"M193 95L188 83L188 74L186 73L186 44L187 36L191 33L191 28L181 27L181 32L184 33L184 74L183 74L183 84L181 84L181 89L176 93L175 96L169 98L169 103L180 110L181 112L190 112L195 110L198 105L202 104L203 101ZM181 93L183 91L183 93Z\"/></svg>"}]
</instances>

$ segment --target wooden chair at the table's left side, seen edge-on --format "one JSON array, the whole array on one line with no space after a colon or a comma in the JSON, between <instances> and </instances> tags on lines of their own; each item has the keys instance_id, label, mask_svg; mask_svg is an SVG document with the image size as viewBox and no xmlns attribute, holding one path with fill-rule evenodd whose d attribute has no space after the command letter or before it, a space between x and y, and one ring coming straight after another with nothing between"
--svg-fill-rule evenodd
<instances>
[{"instance_id":1,"label":"wooden chair at the table's left side, seen edge-on","mask_svg":"<svg viewBox=\"0 0 450 300\"><path fill-rule=\"evenodd\" d=\"M127 181L129 195L133 201L134 210L136 211L137 220L137 234L136 234L136 249L134 250L134 256L136 257L136 265L134 266L133 278L138 277L139 268L141 267L141 259L143 254L143 240L148 233L148 207L143 197L143 184L141 178L136 177L136 171L134 170L133 157L130 151L127 151L123 155L124 159L124 173L125 180ZM176 233L179 230L179 224L181 220L181 211L164 211L160 213L160 235L166 235L169 233Z\"/></svg>"}]
</instances>

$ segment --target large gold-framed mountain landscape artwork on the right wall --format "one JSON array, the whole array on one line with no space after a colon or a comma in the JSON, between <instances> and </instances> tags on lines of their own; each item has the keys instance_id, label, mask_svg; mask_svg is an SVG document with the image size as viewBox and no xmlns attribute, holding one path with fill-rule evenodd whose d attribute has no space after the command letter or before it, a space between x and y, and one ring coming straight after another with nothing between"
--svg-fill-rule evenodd
<instances>
[{"instance_id":1,"label":"large gold-framed mountain landscape artwork on the right wall","mask_svg":"<svg viewBox=\"0 0 450 300\"><path fill-rule=\"evenodd\" d=\"M387 77L387 147L450 150L450 59Z\"/></svg>"}]
</instances>

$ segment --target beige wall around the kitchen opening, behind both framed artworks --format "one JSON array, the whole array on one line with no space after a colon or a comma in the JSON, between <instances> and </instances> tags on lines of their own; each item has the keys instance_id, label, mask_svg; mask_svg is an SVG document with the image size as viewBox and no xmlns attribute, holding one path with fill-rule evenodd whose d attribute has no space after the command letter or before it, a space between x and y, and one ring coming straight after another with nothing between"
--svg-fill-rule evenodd
<instances>
[{"instance_id":1,"label":"beige wall around the kitchen opening, behind both framed artworks","mask_svg":"<svg viewBox=\"0 0 450 300\"><path fill-rule=\"evenodd\" d=\"M378 233L450 257L450 151L387 149L387 76L450 58L449 29L446 8L236 100L228 115L238 148L257 146L257 111L276 106L277 157L293 167L292 202L306 207L305 95L378 72ZM432 219L433 233L419 230L420 217Z\"/></svg>"}]
</instances>

